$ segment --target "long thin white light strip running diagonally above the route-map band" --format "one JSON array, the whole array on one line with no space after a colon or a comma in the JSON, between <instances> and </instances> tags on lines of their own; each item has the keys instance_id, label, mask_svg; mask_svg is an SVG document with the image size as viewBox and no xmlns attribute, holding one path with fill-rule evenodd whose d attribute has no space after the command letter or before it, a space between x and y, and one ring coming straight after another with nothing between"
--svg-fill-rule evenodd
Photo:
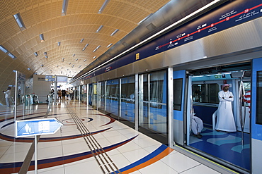
<instances>
[{"instance_id":1,"label":"long thin white light strip running diagonally above the route-map band","mask_svg":"<svg viewBox=\"0 0 262 174\"><path fill-rule=\"evenodd\" d=\"M152 35L151 37L148 37L147 39L144 39L142 42L139 42L138 44L136 44L135 46L132 46L130 49L127 49L126 51L123 51L122 53L118 54L118 56L115 56L113 58L111 58L110 60L106 61L105 63L102 63L99 66L96 66L96 68L93 68L92 70L89 70L89 72L84 73L84 75L81 75L80 77L77 77L74 81L81 79L81 77L84 77L85 75L88 75L89 73L93 72L94 70L100 68L101 66L106 65L107 63L109 63L110 61L115 60L115 58L118 58L120 56L122 56L123 54L126 54L128 51L135 49L137 46L144 44L144 42L147 42L149 39L152 39L154 37L156 37L157 35L160 35L161 33L165 32L166 30L169 30L171 27L174 27L176 25L178 25L179 23L182 23L184 20L187 20L188 18L192 17L193 15L196 15L197 13L200 13L201 11L205 10L206 8L209 8L210 6L217 4L219 1L222 0L215 0L210 2L210 4L207 4L205 6L203 6L202 8L199 8L197 11L194 11L193 13L190 13L189 15L187 15L185 18L182 18L181 20L178 20L176 23L173 23L171 25L169 25L169 27L164 28L163 30L156 32L156 34Z\"/></svg>"}]
</instances>

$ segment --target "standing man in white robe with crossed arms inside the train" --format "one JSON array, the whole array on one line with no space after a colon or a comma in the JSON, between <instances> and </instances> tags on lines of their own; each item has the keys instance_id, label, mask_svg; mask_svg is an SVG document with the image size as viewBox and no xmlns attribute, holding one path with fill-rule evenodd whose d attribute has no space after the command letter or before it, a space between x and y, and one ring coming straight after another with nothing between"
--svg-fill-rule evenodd
<instances>
[{"instance_id":1,"label":"standing man in white robe with crossed arms inside the train","mask_svg":"<svg viewBox=\"0 0 262 174\"><path fill-rule=\"evenodd\" d=\"M232 92L229 92L228 84L222 85L221 89L222 91L218 92L220 104L217 109L217 125L215 130L236 132L237 129L232 111L232 101L234 101L234 96Z\"/></svg>"}]
</instances>

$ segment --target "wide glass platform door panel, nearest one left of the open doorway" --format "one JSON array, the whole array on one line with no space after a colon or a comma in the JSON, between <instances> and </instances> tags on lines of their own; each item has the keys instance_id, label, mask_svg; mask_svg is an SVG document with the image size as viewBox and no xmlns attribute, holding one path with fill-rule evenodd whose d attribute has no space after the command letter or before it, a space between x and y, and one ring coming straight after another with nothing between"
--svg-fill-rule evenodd
<instances>
[{"instance_id":1,"label":"wide glass platform door panel, nearest one left of the open doorway","mask_svg":"<svg viewBox=\"0 0 262 174\"><path fill-rule=\"evenodd\" d=\"M159 70L139 75L139 132L168 144L167 73Z\"/></svg>"}]
</instances>

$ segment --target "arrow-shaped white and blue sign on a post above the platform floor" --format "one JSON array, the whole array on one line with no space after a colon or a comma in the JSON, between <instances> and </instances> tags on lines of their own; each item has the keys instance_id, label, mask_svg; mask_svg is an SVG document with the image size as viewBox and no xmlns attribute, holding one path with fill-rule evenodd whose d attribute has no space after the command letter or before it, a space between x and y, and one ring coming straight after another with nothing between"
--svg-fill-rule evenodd
<instances>
[{"instance_id":1,"label":"arrow-shaped white and blue sign on a post above the platform floor","mask_svg":"<svg viewBox=\"0 0 262 174\"><path fill-rule=\"evenodd\" d=\"M55 134L62 125L56 118L16 120L16 137Z\"/></svg>"}]
</instances>

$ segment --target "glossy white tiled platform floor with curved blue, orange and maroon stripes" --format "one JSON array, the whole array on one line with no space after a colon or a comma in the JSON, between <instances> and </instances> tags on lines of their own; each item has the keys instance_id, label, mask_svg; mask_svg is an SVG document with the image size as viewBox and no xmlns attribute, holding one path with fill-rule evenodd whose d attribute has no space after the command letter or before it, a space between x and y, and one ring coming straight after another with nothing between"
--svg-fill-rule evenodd
<instances>
[{"instance_id":1,"label":"glossy white tiled platform floor with curved blue, orange and maroon stripes","mask_svg":"<svg viewBox=\"0 0 262 174\"><path fill-rule=\"evenodd\" d=\"M18 173L21 163L28 154L33 137L26 137L31 138L29 142L23 138L13 139L15 135L13 111L4 108L4 106L0 107L0 173ZM18 120L23 118L38 119L45 117L47 105L26 107L24 117L22 109L21 106L18 107ZM77 136L80 135L80 132L72 119L72 111L91 133L96 132L92 135L93 138L122 173L224 173L190 159L185 154L176 151L176 148L166 147L123 123L114 120L113 123L110 123L111 120L108 116L104 116L103 113L93 110L89 106L78 101L68 100L51 106L48 118L55 117L64 125L54 135L40 137L38 173L103 173L96 159L92 155L88 155L89 146L92 144L86 142L83 137ZM67 139L68 136L71 137ZM55 141L48 139L50 137L55 137ZM43 142L43 138L47 138L46 142ZM103 165L102 168L104 168ZM35 173L34 163L31 163L29 170L28 173ZM109 168L105 173L114 171L115 168Z\"/></svg>"}]
</instances>

